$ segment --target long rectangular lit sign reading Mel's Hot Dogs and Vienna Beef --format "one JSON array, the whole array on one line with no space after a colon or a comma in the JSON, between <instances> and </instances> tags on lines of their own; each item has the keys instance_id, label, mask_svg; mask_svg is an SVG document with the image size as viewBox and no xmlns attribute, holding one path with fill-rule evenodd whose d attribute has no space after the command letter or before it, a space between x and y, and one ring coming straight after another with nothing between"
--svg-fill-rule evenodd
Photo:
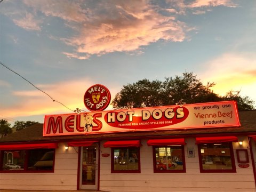
<instances>
[{"instance_id":1,"label":"long rectangular lit sign reading Mel's Hot Dogs and Vienna Beef","mask_svg":"<svg viewBox=\"0 0 256 192\"><path fill-rule=\"evenodd\" d=\"M235 101L46 115L44 136L240 126Z\"/></svg>"}]
</instances>

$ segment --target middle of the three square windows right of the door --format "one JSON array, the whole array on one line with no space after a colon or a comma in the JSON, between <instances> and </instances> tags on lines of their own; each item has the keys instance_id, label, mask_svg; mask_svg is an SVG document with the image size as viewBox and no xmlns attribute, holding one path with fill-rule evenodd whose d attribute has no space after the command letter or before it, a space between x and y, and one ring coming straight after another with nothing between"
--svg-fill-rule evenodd
<instances>
[{"instance_id":1,"label":"middle of the three square windows right of the door","mask_svg":"<svg viewBox=\"0 0 256 192\"><path fill-rule=\"evenodd\" d=\"M183 146L153 146L154 172L186 172Z\"/></svg>"}]
</instances>

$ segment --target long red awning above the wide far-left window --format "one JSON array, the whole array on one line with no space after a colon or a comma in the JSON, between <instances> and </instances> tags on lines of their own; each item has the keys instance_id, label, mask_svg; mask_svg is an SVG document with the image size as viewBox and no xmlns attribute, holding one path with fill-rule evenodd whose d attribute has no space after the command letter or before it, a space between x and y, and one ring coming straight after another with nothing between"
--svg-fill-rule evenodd
<instances>
[{"instance_id":1,"label":"long red awning above the wide far-left window","mask_svg":"<svg viewBox=\"0 0 256 192\"><path fill-rule=\"evenodd\" d=\"M15 145L0 145L0 150L21 150L21 149L55 149L58 143L29 143Z\"/></svg>"}]
</instances>

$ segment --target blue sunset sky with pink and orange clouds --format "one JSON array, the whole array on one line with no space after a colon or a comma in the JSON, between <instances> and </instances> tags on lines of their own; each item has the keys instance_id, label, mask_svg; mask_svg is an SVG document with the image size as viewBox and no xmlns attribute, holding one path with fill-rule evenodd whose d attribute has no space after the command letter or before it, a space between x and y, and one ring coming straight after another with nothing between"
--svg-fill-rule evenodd
<instances>
[{"instance_id":1,"label":"blue sunset sky with pink and orange clouds","mask_svg":"<svg viewBox=\"0 0 256 192\"><path fill-rule=\"evenodd\" d=\"M254 0L3 0L0 119L43 123L88 111L94 84L113 99L124 85L185 72L256 101L255 34Z\"/></svg>"}]
</instances>

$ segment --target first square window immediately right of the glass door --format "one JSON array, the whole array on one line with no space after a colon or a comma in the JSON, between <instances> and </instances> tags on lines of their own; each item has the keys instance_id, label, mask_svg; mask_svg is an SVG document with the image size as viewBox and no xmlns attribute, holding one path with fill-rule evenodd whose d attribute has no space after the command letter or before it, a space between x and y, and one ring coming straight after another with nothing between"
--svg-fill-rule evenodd
<instances>
[{"instance_id":1,"label":"first square window immediately right of the glass door","mask_svg":"<svg viewBox=\"0 0 256 192\"><path fill-rule=\"evenodd\" d=\"M111 173L140 173L140 148L111 148Z\"/></svg>"}]
</instances>

